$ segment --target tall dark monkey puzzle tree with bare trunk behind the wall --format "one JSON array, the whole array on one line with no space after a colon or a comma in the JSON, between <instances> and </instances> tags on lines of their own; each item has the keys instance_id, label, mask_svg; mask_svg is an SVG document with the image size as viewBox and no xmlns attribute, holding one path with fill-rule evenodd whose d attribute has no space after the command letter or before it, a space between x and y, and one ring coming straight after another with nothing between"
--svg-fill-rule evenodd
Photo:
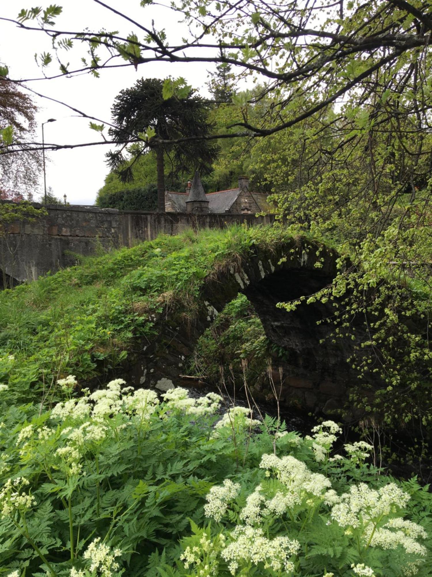
<instances>
[{"instance_id":1,"label":"tall dark monkey puzzle tree with bare trunk behind the wall","mask_svg":"<svg viewBox=\"0 0 432 577\"><path fill-rule=\"evenodd\" d=\"M112 107L113 128L109 134L120 149L107 153L109 166L123 181L132 179L132 167L150 148L157 160L158 212L165 212L165 155L173 171L199 170L211 172L211 163L218 156L218 147L205 141L165 144L164 140L202 137L211 133L203 100L184 87L179 96L162 93L164 83L158 78L141 78L132 88L120 91ZM181 98L180 96L184 96ZM142 138L142 144L126 149L131 137ZM162 142L161 142L162 140ZM124 155L127 151L132 162Z\"/></svg>"}]
</instances>

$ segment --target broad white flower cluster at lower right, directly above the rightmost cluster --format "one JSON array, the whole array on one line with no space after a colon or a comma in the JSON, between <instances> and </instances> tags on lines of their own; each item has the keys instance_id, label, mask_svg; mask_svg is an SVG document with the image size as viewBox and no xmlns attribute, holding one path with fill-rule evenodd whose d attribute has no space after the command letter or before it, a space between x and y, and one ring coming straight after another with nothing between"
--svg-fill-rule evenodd
<instances>
[{"instance_id":1,"label":"broad white flower cluster at lower right, directly above the rightmost cluster","mask_svg":"<svg viewBox=\"0 0 432 577\"><path fill-rule=\"evenodd\" d=\"M378 490L369 489L365 483L352 485L348 493L340 496L340 503L334 505L331 517L341 527L359 527L384 515L403 508L410 496L395 483L384 485Z\"/></svg>"}]
</instances>

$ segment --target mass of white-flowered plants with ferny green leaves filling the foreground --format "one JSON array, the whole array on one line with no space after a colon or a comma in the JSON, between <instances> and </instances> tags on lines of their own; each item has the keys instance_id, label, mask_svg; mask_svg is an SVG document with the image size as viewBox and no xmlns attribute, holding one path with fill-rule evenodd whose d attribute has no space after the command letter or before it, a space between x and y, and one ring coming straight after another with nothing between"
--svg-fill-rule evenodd
<instances>
[{"instance_id":1,"label":"mass of white-flowered plants with ferny green leaves filling the foreground","mask_svg":"<svg viewBox=\"0 0 432 577\"><path fill-rule=\"evenodd\" d=\"M222 399L118 379L0 426L0 567L8 577L431 574L432 495ZM1 394L6 389L2 387ZM1 398L1 397L0 397Z\"/></svg>"}]
</instances>

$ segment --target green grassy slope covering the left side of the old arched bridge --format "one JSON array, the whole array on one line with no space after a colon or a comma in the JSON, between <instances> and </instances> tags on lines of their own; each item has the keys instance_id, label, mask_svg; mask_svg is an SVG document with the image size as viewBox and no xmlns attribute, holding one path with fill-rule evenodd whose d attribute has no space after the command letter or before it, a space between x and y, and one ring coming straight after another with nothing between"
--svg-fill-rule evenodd
<instances>
[{"instance_id":1,"label":"green grassy slope covering the left side of the old arched bridge","mask_svg":"<svg viewBox=\"0 0 432 577\"><path fill-rule=\"evenodd\" d=\"M151 338L167 302L194 313L204 278L245 254L255 229L187 231L81 264L0 293L0 382L34 400L59 377L99 377ZM14 356L10 361L8 355Z\"/></svg>"}]
</instances>

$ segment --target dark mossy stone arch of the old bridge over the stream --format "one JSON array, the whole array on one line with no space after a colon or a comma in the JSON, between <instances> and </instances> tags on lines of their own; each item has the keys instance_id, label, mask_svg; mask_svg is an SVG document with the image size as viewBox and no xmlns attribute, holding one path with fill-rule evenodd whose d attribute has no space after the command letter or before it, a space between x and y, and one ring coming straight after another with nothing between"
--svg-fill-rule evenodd
<instances>
[{"instance_id":1,"label":"dark mossy stone arch of the old bridge over the stream","mask_svg":"<svg viewBox=\"0 0 432 577\"><path fill-rule=\"evenodd\" d=\"M335 413L357 380L347 358L358 341L338 339L335 343L328 338L334 327L326 322L317 324L334 314L332 301L302 302L291 312L276 308L276 304L328 286L336 275L337 258L334 250L321 248L317 256L317 246L291 241L271 250L254 246L248 256L215 268L204 280L194 319L176 314L175 308L167 308L158 317L156 338L143 342L129 361L129 379L135 386L162 389L184 384L187 358L199 336L240 292L255 308L268 339L286 350L286 360L275 361L272 370L274 382L281 388L281 403Z\"/></svg>"}]
</instances>

